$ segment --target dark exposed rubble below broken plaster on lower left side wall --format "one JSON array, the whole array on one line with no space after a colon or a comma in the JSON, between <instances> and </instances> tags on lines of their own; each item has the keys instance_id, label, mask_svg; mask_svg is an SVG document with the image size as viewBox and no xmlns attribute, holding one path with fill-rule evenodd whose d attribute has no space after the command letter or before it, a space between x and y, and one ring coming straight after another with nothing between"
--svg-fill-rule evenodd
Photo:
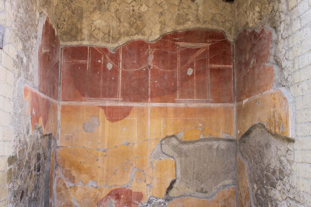
<instances>
[{"instance_id":1,"label":"dark exposed rubble below broken plaster on lower left side wall","mask_svg":"<svg viewBox=\"0 0 311 207\"><path fill-rule=\"evenodd\" d=\"M24 139L16 155L8 159L9 206L50 206L51 153L56 147L52 134L42 127Z\"/></svg>"}]
</instances>

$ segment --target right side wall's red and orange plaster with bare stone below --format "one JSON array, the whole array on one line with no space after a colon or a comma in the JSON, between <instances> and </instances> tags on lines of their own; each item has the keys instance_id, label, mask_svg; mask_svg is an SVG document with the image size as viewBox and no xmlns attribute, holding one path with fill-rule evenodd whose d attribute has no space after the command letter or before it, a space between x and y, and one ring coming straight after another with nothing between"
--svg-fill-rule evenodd
<instances>
[{"instance_id":1,"label":"right side wall's red and orange plaster with bare stone below","mask_svg":"<svg viewBox=\"0 0 311 207\"><path fill-rule=\"evenodd\" d=\"M296 186L290 108L282 91L272 88L271 48L272 32L264 27L243 30L235 41L240 207L281 206Z\"/></svg>"}]
</instances>

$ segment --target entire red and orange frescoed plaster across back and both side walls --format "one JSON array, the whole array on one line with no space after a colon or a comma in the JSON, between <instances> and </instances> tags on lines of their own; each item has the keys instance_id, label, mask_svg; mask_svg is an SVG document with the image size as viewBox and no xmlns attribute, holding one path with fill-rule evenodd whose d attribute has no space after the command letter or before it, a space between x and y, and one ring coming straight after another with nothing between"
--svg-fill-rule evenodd
<instances>
[{"instance_id":1,"label":"entire red and orange frescoed plaster across back and both side walls","mask_svg":"<svg viewBox=\"0 0 311 207\"><path fill-rule=\"evenodd\" d=\"M42 151L51 155L44 169L50 205L235 206L236 191L238 206L278 205L289 198L296 184L287 180L295 173L288 167L276 171L280 160L293 160L286 138L289 104L272 88L271 41L268 29L242 31L234 72L233 46L221 31L176 31L115 51L59 49L47 19L39 88L26 85L24 94L32 131L42 126L42 134L58 135L57 149L49 144ZM274 160L259 152L272 147L289 151L271 155ZM256 169L270 165L261 178ZM266 179L272 182L258 191L254 184Z\"/></svg>"}]
</instances>

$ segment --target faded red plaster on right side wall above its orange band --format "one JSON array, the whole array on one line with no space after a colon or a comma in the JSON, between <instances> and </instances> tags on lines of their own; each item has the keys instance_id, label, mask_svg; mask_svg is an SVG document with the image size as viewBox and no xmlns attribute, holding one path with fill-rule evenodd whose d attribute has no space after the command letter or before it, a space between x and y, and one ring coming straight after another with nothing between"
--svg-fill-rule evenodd
<instances>
[{"instance_id":1,"label":"faded red plaster on right side wall above its orange band","mask_svg":"<svg viewBox=\"0 0 311 207\"><path fill-rule=\"evenodd\" d=\"M237 101L242 101L272 88L273 66L269 60L272 34L264 28L244 30L235 41Z\"/></svg>"}]
</instances>

